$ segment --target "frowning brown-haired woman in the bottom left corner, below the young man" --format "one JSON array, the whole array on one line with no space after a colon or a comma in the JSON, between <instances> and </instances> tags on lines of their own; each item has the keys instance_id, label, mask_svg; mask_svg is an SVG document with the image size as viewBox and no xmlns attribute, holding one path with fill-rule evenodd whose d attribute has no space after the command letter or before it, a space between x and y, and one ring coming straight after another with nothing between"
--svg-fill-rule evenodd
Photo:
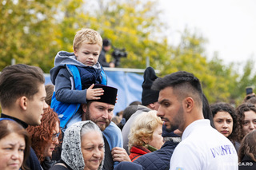
<instances>
[{"instance_id":1,"label":"frowning brown-haired woman in the bottom left corner, below the young man","mask_svg":"<svg viewBox=\"0 0 256 170\"><path fill-rule=\"evenodd\" d=\"M27 169L24 166L30 154L30 137L15 121L0 118L0 169Z\"/></svg>"}]
</instances>

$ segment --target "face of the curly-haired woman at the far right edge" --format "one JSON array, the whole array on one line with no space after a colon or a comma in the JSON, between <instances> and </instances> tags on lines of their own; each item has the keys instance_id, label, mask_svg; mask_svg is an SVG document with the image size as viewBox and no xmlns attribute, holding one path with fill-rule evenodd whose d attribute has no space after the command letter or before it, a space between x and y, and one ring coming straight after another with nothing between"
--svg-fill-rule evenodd
<instances>
[{"instance_id":1,"label":"face of the curly-haired woman at the far right edge","mask_svg":"<svg viewBox=\"0 0 256 170\"><path fill-rule=\"evenodd\" d=\"M254 111L246 111L245 119L242 121L242 131L243 134L246 136L247 133L256 129L256 113Z\"/></svg>"}]
</instances>

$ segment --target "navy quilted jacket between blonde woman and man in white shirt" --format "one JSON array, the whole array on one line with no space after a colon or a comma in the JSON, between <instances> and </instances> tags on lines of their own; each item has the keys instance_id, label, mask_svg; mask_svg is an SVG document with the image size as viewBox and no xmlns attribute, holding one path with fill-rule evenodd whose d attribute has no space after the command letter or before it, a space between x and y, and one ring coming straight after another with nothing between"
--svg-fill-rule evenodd
<instances>
[{"instance_id":1,"label":"navy quilted jacket between blonde woman and man in white shirt","mask_svg":"<svg viewBox=\"0 0 256 170\"><path fill-rule=\"evenodd\" d=\"M177 145L177 142L168 140L162 145L162 148L140 156L137 160L134 160L134 163L142 165L143 170L169 169L170 157L172 156L174 148L176 148Z\"/></svg>"}]
</instances>

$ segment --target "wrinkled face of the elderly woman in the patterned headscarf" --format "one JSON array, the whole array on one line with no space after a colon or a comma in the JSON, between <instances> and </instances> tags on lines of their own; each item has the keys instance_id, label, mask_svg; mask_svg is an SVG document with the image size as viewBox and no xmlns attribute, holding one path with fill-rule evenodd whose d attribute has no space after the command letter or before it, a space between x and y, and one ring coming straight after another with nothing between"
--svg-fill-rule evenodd
<instances>
[{"instance_id":1,"label":"wrinkled face of the elderly woman in the patterned headscarf","mask_svg":"<svg viewBox=\"0 0 256 170\"><path fill-rule=\"evenodd\" d=\"M96 170L104 156L104 140L99 132L87 132L81 139L82 157L85 161L85 170Z\"/></svg>"}]
</instances>

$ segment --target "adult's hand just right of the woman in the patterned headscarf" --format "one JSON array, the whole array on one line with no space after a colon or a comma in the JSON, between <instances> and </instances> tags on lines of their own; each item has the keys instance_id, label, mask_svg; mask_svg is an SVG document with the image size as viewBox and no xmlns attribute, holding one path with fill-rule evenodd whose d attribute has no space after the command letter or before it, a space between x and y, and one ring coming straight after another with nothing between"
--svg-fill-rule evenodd
<instances>
[{"instance_id":1,"label":"adult's hand just right of the woman in the patterned headscarf","mask_svg":"<svg viewBox=\"0 0 256 170\"><path fill-rule=\"evenodd\" d=\"M122 161L130 161L130 157L128 156L126 150L120 147L114 147L111 151L112 157L114 161L122 162Z\"/></svg>"}]
</instances>

